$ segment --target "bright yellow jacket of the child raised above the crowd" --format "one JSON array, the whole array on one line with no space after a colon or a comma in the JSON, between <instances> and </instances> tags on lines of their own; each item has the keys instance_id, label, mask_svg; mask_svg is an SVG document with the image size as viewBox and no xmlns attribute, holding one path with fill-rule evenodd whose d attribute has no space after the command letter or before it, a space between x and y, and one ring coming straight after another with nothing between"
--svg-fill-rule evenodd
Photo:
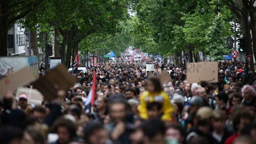
<instances>
[{"instance_id":1,"label":"bright yellow jacket of the child raised above the crowd","mask_svg":"<svg viewBox=\"0 0 256 144\"><path fill-rule=\"evenodd\" d=\"M172 120L172 112L173 107L171 105L171 101L169 99L169 96L161 91L160 93L149 93L148 91L145 91L140 98L140 104L138 106L139 116L143 119L148 119L147 114L147 104L151 102L159 102L162 104L162 112L163 115L161 117L161 120Z\"/></svg>"}]
</instances>

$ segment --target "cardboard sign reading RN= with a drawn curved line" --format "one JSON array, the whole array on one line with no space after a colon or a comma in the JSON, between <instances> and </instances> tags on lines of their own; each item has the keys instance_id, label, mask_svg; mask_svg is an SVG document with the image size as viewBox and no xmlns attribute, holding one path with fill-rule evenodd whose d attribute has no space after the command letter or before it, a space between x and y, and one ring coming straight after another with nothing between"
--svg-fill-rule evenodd
<instances>
[{"instance_id":1,"label":"cardboard sign reading RN= with a drawn curved line","mask_svg":"<svg viewBox=\"0 0 256 144\"><path fill-rule=\"evenodd\" d=\"M187 83L218 82L218 62L187 63Z\"/></svg>"}]
</instances>

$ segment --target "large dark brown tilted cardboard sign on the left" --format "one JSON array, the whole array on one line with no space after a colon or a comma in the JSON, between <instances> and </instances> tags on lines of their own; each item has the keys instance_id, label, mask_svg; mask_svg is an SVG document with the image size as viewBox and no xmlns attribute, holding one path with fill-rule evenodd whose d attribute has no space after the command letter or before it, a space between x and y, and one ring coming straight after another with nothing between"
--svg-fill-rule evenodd
<instances>
[{"instance_id":1,"label":"large dark brown tilted cardboard sign on the left","mask_svg":"<svg viewBox=\"0 0 256 144\"><path fill-rule=\"evenodd\" d=\"M47 100L52 100L57 98L58 90L67 90L75 82L77 81L71 73L68 73L66 67L59 64L44 77L32 84Z\"/></svg>"}]
</instances>

